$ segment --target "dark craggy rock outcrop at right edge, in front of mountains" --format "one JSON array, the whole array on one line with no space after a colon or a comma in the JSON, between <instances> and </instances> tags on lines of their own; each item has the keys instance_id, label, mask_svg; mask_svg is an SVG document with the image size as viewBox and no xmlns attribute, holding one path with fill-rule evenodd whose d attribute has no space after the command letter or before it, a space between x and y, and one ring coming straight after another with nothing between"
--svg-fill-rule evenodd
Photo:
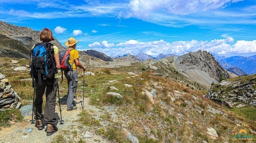
<instances>
[{"instance_id":1,"label":"dark craggy rock outcrop at right edge, in front of mountains","mask_svg":"<svg viewBox=\"0 0 256 143\"><path fill-rule=\"evenodd\" d=\"M223 80L212 86L205 97L231 105L256 105L256 74Z\"/></svg>"}]
</instances>

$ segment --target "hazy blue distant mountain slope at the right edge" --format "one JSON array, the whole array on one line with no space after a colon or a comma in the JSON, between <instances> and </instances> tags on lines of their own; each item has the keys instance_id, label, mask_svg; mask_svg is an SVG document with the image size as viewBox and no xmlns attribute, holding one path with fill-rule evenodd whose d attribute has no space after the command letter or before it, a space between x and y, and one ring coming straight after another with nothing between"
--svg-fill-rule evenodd
<instances>
[{"instance_id":1,"label":"hazy blue distant mountain slope at the right edge","mask_svg":"<svg viewBox=\"0 0 256 143\"><path fill-rule=\"evenodd\" d=\"M214 56L218 62L222 62L224 64L223 68L234 68L238 67L241 70L245 71L247 74L255 74L256 73L256 55L254 56L232 56L232 57L220 57ZM232 66L231 66L232 65ZM227 67L226 67L227 66Z\"/></svg>"}]
</instances>

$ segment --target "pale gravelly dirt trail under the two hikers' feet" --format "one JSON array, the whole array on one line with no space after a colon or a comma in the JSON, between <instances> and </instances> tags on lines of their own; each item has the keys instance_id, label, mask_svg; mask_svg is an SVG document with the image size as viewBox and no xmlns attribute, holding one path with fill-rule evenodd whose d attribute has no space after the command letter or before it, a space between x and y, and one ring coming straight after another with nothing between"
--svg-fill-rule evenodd
<instances>
[{"instance_id":1,"label":"pale gravelly dirt trail under the two hikers' feet","mask_svg":"<svg viewBox=\"0 0 256 143\"><path fill-rule=\"evenodd\" d=\"M0 143L49 143L51 142L56 135L61 134L61 132L66 132L67 130L69 135L71 132L75 131L77 132L76 137L70 138L70 140L67 140L67 142L72 141L72 142L78 142L78 140L81 138L85 142L101 142L105 143L107 142L105 139L102 137L96 135L93 133L93 131L90 130L90 128L83 126L78 122L79 116L78 114L82 112L82 102L83 98L77 97L76 105L78 109L72 110L72 111L67 111L66 110L66 105L61 105L62 109L62 119L65 121L64 124L60 125L59 123L57 124L57 127L59 128L59 131L54 133L51 136L46 135L46 130L45 128L47 127L45 125L43 130L37 130L37 128L34 126L34 124L31 124L29 120L31 120L31 116L25 117L24 122L21 123L12 123L11 127L9 128L3 128L0 131ZM81 102L81 103L79 103ZM89 105L89 98L85 98L84 100L84 109L85 110L90 110L91 112L97 113L98 117L94 118L99 118L101 114L104 114L105 110L104 109L99 109L96 106ZM60 109L59 105L56 105L56 115L57 115L57 120L60 120ZM32 128L32 133L26 133L25 129L31 127ZM84 134L86 131L92 132L94 136L92 138L84 138ZM63 135L63 134L62 134Z\"/></svg>"}]
</instances>

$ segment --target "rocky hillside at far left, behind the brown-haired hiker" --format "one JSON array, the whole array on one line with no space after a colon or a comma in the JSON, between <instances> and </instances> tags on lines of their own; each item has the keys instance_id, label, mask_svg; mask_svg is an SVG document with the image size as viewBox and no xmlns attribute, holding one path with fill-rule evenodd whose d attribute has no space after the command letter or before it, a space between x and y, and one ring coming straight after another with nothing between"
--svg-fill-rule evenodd
<instances>
[{"instance_id":1,"label":"rocky hillside at far left, behind the brown-haired hiker","mask_svg":"<svg viewBox=\"0 0 256 143\"><path fill-rule=\"evenodd\" d=\"M40 42L40 31L32 30L28 27L20 27L8 24L3 21L0 21L0 34L1 38L9 38L7 40L8 42L3 40L0 41L0 54L5 55L5 53L8 53L7 55L11 57L20 58L24 57L23 55L28 56L29 53L27 51L30 51L34 44ZM52 41L52 43L59 49L64 49L64 47L57 41L57 39ZM5 50L8 52L5 52ZM14 51L14 53L9 52L10 50ZM25 58L27 58L26 56Z\"/></svg>"}]
</instances>

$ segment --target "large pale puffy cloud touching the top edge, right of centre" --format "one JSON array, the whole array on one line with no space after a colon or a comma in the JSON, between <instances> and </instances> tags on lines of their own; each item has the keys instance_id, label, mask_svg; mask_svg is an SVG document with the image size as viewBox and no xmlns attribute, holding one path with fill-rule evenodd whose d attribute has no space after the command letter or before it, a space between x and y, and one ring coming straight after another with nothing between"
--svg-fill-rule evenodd
<instances>
[{"instance_id":1,"label":"large pale puffy cloud touching the top edge, right of centre","mask_svg":"<svg viewBox=\"0 0 256 143\"><path fill-rule=\"evenodd\" d=\"M152 12L164 12L167 14L188 15L207 10L225 7L229 3L242 0L130 0L129 16L148 19Z\"/></svg>"}]
</instances>

